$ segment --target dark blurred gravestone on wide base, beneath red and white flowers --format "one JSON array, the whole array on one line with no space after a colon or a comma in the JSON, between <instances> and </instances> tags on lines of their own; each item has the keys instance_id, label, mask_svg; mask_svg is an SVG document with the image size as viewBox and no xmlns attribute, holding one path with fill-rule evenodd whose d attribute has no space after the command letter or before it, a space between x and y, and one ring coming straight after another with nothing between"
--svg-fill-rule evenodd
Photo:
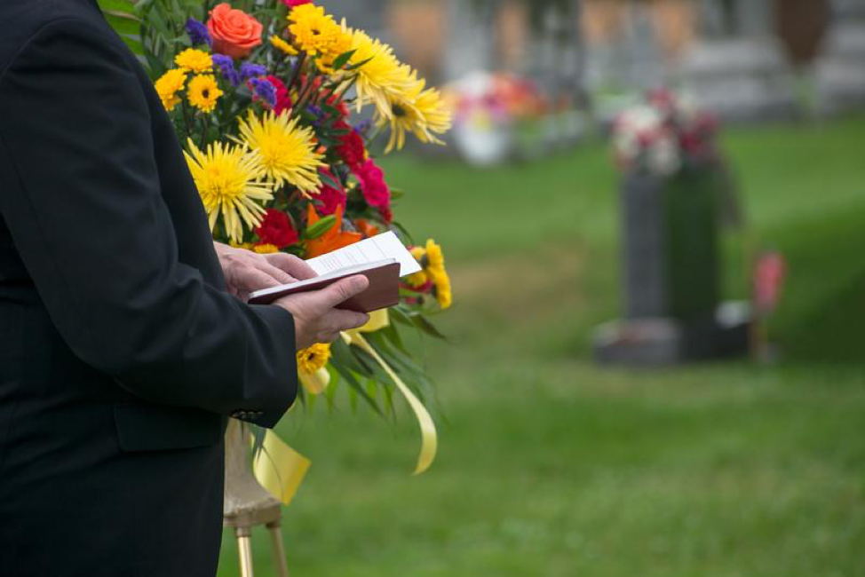
<instances>
[{"instance_id":1,"label":"dark blurred gravestone on wide base, beneath red and white flowers","mask_svg":"<svg viewBox=\"0 0 865 577\"><path fill-rule=\"evenodd\" d=\"M747 319L719 303L721 186L715 170L624 179L625 318L599 328L599 362L662 365L747 350Z\"/></svg>"}]
</instances>

